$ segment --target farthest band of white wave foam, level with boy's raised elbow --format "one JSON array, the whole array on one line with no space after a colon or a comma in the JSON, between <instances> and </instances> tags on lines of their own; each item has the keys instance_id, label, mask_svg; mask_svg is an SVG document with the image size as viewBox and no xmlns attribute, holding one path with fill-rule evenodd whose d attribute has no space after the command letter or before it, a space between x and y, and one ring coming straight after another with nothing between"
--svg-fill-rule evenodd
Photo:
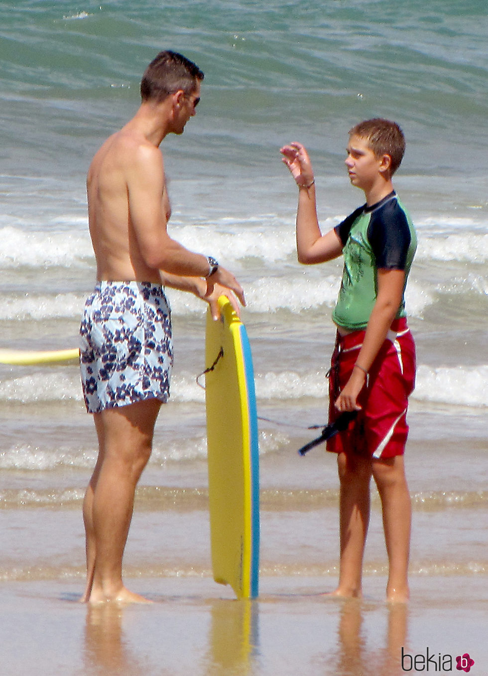
<instances>
[{"instance_id":1,"label":"farthest band of white wave foam, level with boy's raised elbow","mask_svg":"<svg viewBox=\"0 0 488 676\"><path fill-rule=\"evenodd\" d=\"M71 229L56 230L56 224L66 225L65 220L51 219L49 228L46 225L40 231L23 228L22 224L0 227L0 268L93 266L88 228L80 228L80 224L86 225L86 218L75 218ZM337 220L328 219L326 226L333 226ZM210 251L227 266L246 258L258 258L271 267L285 260L296 261L293 228L285 226L278 216L264 215L261 225L236 219L229 223L220 219L205 226L179 224L170 227L170 235L193 251ZM416 256L417 260L483 263L488 260L488 235L485 231L420 231Z\"/></svg>"}]
</instances>

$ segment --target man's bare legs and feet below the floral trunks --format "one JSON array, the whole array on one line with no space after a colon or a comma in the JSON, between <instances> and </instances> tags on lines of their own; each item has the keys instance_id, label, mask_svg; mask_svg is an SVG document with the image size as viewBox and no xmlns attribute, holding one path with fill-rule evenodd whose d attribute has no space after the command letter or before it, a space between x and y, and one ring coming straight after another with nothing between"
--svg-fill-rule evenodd
<instances>
[{"instance_id":1,"label":"man's bare legs and feet below the floral trunks","mask_svg":"<svg viewBox=\"0 0 488 676\"><path fill-rule=\"evenodd\" d=\"M84 500L87 589L82 600L144 602L122 583L122 556L137 482L151 455L155 399L95 414L99 460Z\"/></svg>"}]
</instances>

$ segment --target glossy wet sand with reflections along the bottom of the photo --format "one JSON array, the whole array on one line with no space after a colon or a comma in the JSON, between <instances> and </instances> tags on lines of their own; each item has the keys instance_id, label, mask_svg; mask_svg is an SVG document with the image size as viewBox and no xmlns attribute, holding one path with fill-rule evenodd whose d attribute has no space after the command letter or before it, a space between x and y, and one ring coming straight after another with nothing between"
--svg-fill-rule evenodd
<instances>
[{"instance_id":1,"label":"glossy wet sand with reflections along the bottom of the photo","mask_svg":"<svg viewBox=\"0 0 488 676\"><path fill-rule=\"evenodd\" d=\"M94 608L77 602L79 581L1 583L0 673L393 676L422 663L427 671L429 658L429 671L457 673L465 653L474 675L487 673L483 579L472 578L467 596L456 577L414 577L408 605L376 600L383 576L368 579L362 601L320 596L333 578L261 583L250 602L208 577L130 579L153 604Z\"/></svg>"}]
</instances>

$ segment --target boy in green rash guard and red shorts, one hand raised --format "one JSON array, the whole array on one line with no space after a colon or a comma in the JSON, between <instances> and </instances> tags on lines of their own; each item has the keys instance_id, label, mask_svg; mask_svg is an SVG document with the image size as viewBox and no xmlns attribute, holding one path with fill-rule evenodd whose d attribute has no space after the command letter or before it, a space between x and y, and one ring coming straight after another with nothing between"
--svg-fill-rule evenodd
<instances>
[{"instance_id":1,"label":"boy in green rash guard and red shorts, one hand raised","mask_svg":"<svg viewBox=\"0 0 488 676\"><path fill-rule=\"evenodd\" d=\"M407 397L414 389L415 345L404 290L416 249L410 216L393 190L405 150L401 129L366 120L349 132L345 164L366 204L322 235L314 173L306 149L281 149L299 187L297 254L303 264L344 256L333 320L337 341L329 379L329 414L356 411L347 429L327 442L337 453L340 481L340 570L334 596L362 596L362 560L370 515L370 479L383 507L389 558L387 600L406 602L411 505L404 469Z\"/></svg>"}]
</instances>

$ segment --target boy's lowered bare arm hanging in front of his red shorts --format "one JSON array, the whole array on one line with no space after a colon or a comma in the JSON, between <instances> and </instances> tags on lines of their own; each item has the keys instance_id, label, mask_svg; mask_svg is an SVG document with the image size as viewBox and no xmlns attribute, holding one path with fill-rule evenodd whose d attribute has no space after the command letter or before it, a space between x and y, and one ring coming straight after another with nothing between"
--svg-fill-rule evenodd
<instances>
[{"instance_id":1,"label":"boy's lowered bare arm hanging in front of his red shorts","mask_svg":"<svg viewBox=\"0 0 488 676\"><path fill-rule=\"evenodd\" d=\"M378 270L378 295L370 314L366 335L356 359L351 377L335 401L337 410L360 410L357 399L381 345L385 342L404 292L404 270Z\"/></svg>"}]
</instances>

